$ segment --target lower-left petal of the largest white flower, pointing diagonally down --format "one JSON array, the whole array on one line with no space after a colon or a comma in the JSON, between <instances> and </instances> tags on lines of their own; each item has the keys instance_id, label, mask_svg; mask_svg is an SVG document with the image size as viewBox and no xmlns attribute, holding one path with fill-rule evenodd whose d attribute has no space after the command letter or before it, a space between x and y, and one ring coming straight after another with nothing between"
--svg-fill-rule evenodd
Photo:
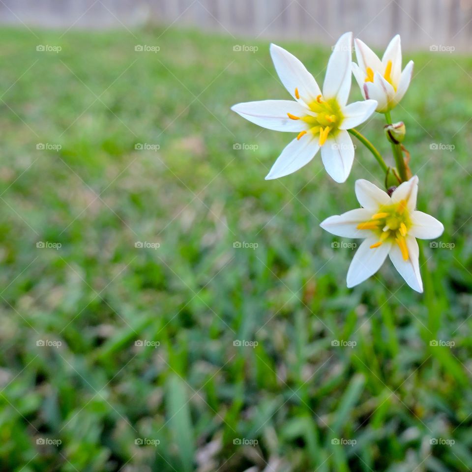
<instances>
[{"instance_id":1,"label":"lower-left petal of the largest white flower, pointing diagonally down","mask_svg":"<svg viewBox=\"0 0 472 472\"><path fill-rule=\"evenodd\" d=\"M305 135L300 140L296 138L282 151L266 180L288 176L308 164L320 148L318 140L313 135Z\"/></svg>"}]
</instances>

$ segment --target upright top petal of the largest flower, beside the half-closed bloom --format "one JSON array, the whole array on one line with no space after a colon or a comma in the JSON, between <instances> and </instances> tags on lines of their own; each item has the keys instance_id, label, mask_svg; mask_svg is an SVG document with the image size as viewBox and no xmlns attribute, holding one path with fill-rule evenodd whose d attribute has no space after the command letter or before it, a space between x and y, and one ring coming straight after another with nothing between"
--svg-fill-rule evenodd
<instances>
[{"instance_id":1,"label":"upright top petal of the largest flower, beside the half-closed bloom","mask_svg":"<svg viewBox=\"0 0 472 472\"><path fill-rule=\"evenodd\" d=\"M351 58L353 33L344 33L333 48L326 67L323 83L323 98L336 97L343 107L351 91Z\"/></svg>"}]
</instances>

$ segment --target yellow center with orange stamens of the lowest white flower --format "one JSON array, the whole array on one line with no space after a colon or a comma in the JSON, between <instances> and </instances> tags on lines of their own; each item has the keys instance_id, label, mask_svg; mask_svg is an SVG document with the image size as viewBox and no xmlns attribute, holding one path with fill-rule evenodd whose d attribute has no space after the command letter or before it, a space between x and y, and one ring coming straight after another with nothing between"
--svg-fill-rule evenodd
<instances>
[{"instance_id":1,"label":"yellow center with orange stamens of the lowest white flower","mask_svg":"<svg viewBox=\"0 0 472 472\"><path fill-rule=\"evenodd\" d=\"M408 260L408 247L405 237L412 226L412 221L407 209L407 201L401 200L393 205L382 205L378 213L371 219L357 225L358 230L371 230L379 236L379 241L370 246L371 249L379 247L389 240L398 244L405 261Z\"/></svg>"}]
</instances>

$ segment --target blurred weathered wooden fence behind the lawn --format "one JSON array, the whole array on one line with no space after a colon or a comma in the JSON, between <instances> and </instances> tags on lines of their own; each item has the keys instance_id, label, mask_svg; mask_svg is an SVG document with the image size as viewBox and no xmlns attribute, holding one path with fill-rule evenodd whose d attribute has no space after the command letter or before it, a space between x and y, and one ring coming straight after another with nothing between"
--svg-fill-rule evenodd
<instances>
[{"instance_id":1,"label":"blurred weathered wooden fence behind the lawn","mask_svg":"<svg viewBox=\"0 0 472 472\"><path fill-rule=\"evenodd\" d=\"M132 28L148 22L234 36L332 44L344 31L384 45L472 49L472 0L0 0L0 21L58 28Z\"/></svg>"}]
</instances>

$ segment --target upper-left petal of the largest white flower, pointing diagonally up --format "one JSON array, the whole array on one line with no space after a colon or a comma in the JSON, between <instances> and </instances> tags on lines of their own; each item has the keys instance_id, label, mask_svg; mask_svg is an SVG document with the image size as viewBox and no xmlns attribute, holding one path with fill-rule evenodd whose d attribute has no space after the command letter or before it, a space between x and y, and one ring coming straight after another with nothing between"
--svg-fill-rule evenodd
<instances>
[{"instance_id":1,"label":"upper-left petal of the largest white flower, pointing diagonally up","mask_svg":"<svg viewBox=\"0 0 472 472\"><path fill-rule=\"evenodd\" d=\"M300 99L305 103L316 100L321 94L320 87L300 60L275 44L270 45L270 55L282 84L295 99L295 89L298 89Z\"/></svg>"}]
</instances>

